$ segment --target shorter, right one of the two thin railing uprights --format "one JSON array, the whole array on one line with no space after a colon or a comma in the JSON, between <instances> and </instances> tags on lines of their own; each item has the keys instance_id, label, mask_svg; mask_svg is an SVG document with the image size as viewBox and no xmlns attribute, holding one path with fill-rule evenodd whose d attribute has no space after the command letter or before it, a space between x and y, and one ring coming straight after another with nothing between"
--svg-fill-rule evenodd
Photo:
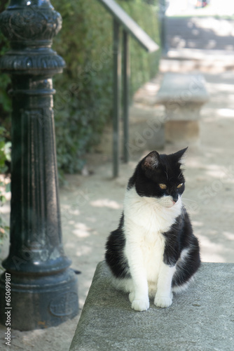
<instances>
[{"instance_id":1,"label":"shorter, right one of the two thin railing uprights","mask_svg":"<svg viewBox=\"0 0 234 351\"><path fill-rule=\"evenodd\" d=\"M130 62L129 62L129 37L128 32L123 30L123 161L128 163L128 143L129 143L129 79L130 79Z\"/></svg>"}]
</instances>

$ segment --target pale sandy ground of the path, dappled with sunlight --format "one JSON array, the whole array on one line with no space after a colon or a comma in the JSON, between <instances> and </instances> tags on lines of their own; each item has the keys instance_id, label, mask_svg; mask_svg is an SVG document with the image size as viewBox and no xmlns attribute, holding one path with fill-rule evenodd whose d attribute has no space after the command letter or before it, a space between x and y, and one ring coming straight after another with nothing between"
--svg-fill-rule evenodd
<instances>
[{"instance_id":1,"label":"pale sandy ground of the path, dappled with sunlight","mask_svg":"<svg viewBox=\"0 0 234 351\"><path fill-rule=\"evenodd\" d=\"M210 100L202 107L200 143L187 152L184 204L200 239L202 260L234 263L234 72L203 74ZM138 98L142 93L147 94L147 89L138 93ZM163 152L175 152L179 147L167 144ZM121 164L120 176L113 179L108 149L106 145L106 152L88 155L85 173L89 174L67 176L68 185L60 189L64 249L73 262L71 267L82 272L78 275L80 311L95 267L104 259L106 237L118 225L128 178L137 161L151 151L134 154L129 164ZM9 203L2 210L8 218ZM6 243L5 256L7 251ZM80 315L56 328L13 331L9 350L67 351ZM1 350L8 350L5 329L0 326Z\"/></svg>"}]
</instances>

